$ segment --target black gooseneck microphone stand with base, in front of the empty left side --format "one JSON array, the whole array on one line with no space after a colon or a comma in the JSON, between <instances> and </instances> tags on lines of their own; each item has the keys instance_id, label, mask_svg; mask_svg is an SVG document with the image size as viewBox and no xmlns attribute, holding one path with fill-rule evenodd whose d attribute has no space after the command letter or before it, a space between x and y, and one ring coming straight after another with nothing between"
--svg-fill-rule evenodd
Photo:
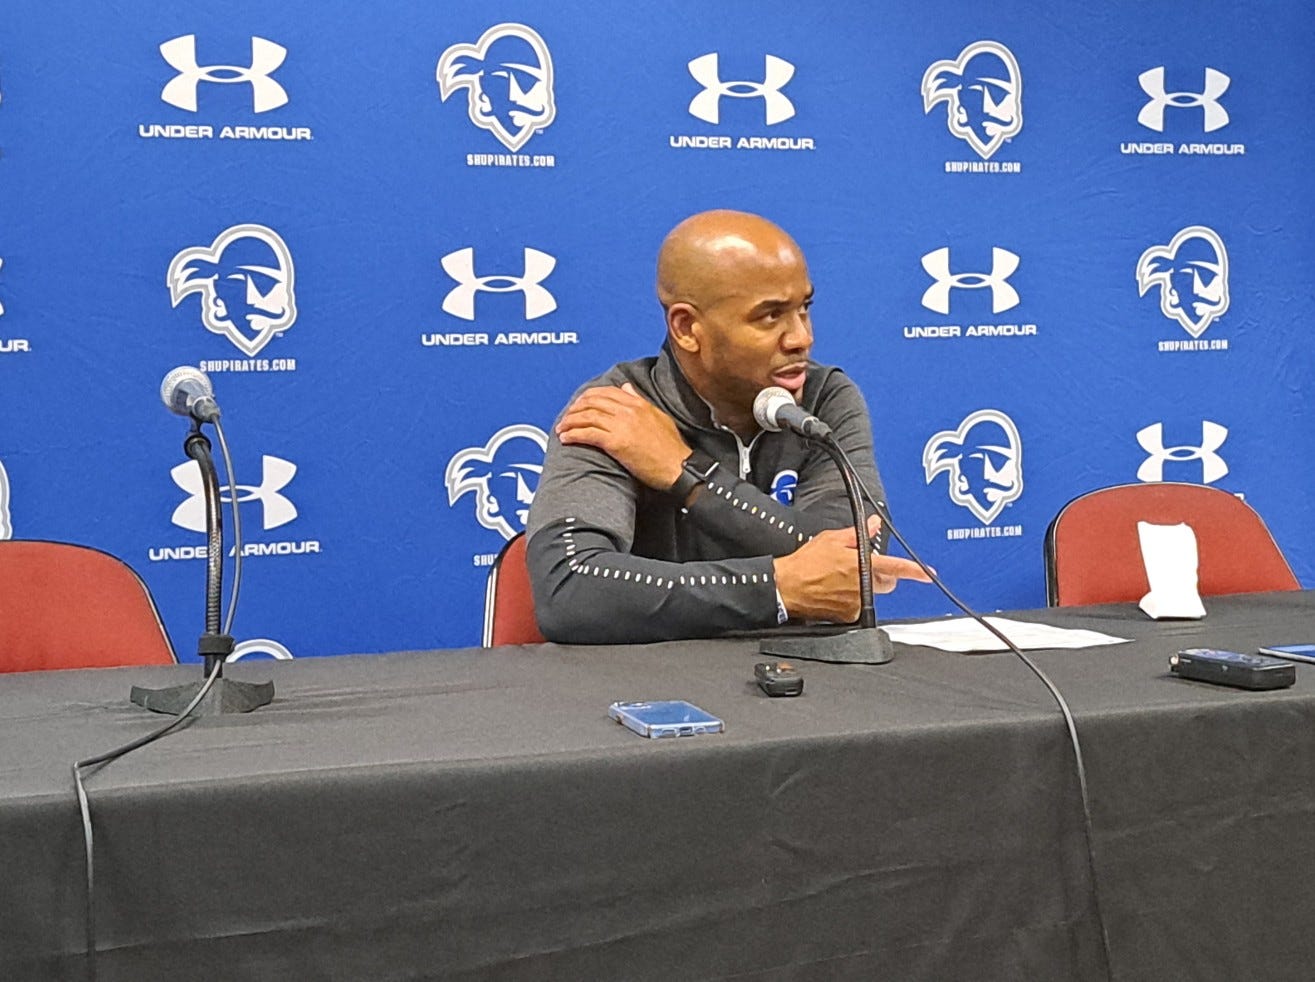
<instances>
[{"instance_id":1,"label":"black gooseneck microphone stand with base, in front of the empty left side","mask_svg":"<svg viewBox=\"0 0 1315 982\"><path fill-rule=\"evenodd\" d=\"M238 682L224 677L224 660L233 653L233 636L220 627L220 594L224 584L224 522L220 513L220 476L214 469L210 442L201 433L200 421L183 440L183 452L201 468L205 488L205 634L197 643L197 653L205 660L203 681L175 685L167 689L133 686L129 698L153 713L181 715L205 685L205 678L216 673L214 684L193 710L193 715L220 715L250 713L274 699L274 682Z\"/></svg>"}]
</instances>

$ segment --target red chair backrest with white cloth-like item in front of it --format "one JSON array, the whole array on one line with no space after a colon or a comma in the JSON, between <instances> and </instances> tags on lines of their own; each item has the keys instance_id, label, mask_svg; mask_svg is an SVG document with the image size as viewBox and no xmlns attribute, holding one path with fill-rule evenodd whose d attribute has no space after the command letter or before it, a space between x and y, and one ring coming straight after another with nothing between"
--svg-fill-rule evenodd
<instances>
[{"instance_id":1,"label":"red chair backrest with white cloth-like item in front of it","mask_svg":"<svg viewBox=\"0 0 1315 982\"><path fill-rule=\"evenodd\" d=\"M1202 596L1302 588L1264 521L1241 498L1203 484L1120 484L1074 498L1051 522L1047 603L1141 599L1151 586L1137 522L1191 527Z\"/></svg>"}]
</instances>

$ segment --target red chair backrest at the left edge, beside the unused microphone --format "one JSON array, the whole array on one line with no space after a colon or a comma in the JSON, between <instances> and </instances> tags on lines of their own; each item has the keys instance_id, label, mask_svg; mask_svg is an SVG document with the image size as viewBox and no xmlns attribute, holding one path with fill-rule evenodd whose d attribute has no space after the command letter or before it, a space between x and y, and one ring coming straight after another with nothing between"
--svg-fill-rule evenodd
<instances>
[{"instance_id":1,"label":"red chair backrest at the left edge, beside the unused microphone","mask_svg":"<svg viewBox=\"0 0 1315 982\"><path fill-rule=\"evenodd\" d=\"M174 661L155 602L126 563L87 546L0 542L0 672Z\"/></svg>"}]
</instances>

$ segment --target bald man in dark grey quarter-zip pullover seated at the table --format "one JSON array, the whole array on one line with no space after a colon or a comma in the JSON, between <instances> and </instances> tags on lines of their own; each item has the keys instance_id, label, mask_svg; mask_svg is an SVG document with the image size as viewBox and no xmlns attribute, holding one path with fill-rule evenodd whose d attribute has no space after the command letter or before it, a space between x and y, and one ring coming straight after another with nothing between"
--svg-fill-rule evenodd
<instances>
[{"instance_id":1,"label":"bald man in dark grey quarter-zip pullover seated at the table","mask_svg":"<svg viewBox=\"0 0 1315 982\"><path fill-rule=\"evenodd\" d=\"M658 297L661 354L588 383L550 436L527 528L544 636L655 642L856 619L859 553L835 465L753 421L757 393L785 388L882 497L863 397L809 360L800 247L753 214L696 214L661 246ZM874 589L899 577L926 581L909 560L873 556Z\"/></svg>"}]
</instances>

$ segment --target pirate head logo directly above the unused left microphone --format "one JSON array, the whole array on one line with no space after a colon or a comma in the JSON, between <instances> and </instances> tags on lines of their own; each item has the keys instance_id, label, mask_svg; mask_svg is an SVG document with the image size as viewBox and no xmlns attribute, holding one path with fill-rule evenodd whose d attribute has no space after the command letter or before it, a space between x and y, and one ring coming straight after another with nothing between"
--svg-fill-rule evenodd
<instances>
[{"instance_id":1,"label":"pirate head logo directly above the unused left microphone","mask_svg":"<svg viewBox=\"0 0 1315 982\"><path fill-rule=\"evenodd\" d=\"M168 264L174 306L201 294L201 323L255 355L297 319L292 254L274 229L234 225L209 246L184 248Z\"/></svg>"}]
</instances>

